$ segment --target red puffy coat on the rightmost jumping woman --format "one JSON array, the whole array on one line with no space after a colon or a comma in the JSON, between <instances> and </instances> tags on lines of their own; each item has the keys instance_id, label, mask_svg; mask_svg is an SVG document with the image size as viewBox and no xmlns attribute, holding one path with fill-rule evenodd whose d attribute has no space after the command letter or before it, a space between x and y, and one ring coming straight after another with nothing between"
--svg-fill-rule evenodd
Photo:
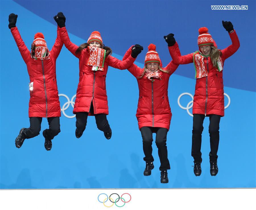
<instances>
[{"instance_id":1,"label":"red puffy coat on the rightmost jumping woman","mask_svg":"<svg viewBox=\"0 0 256 210\"><path fill-rule=\"evenodd\" d=\"M224 50L220 50L223 64L224 61L232 56L240 46L236 31L229 33L229 36L232 44ZM193 53L179 56L176 53L176 44L177 43L171 47L170 51L173 61L178 64L193 63ZM205 116L209 114L217 114L224 116L223 70L220 72L217 71L212 65L210 57L205 57L204 63L206 70L208 71L208 76L196 80L193 114L205 114Z\"/></svg>"}]
</instances>

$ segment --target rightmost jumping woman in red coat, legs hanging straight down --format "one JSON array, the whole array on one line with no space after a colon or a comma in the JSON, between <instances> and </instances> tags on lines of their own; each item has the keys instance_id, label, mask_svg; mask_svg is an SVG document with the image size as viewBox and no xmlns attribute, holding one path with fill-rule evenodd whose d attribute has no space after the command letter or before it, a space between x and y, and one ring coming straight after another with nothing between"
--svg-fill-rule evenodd
<instances>
[{"instance_id":1,"label":"rightmost jumping woman in red coat, legs hanging straight down","mask_svg":"<svg viewBox=\"0 0 256 210\"><path fill-rule=\"evenodd\" d=\"M192 130L192 151L194 158L194 173L201 175L201 142L203 132L203 121L206 116L210 119L210 174L216 176L218 173L217 151L219 146L219 125L220 117L224 116L224 90L222 70L224 61L232 56L239 48L240 43L231 22L222 21L223 27L228 31L232 44L224 50L217 49L217 46L208 33L208 29L199 29L198 46L199 51L180 56L176 53L176 43L173 34L164 37L166 41L172 41L170 46L171 56L175 63L194 63L195 66L195 95L193 100L193 130Z\"/></svg>"}]
</instances>

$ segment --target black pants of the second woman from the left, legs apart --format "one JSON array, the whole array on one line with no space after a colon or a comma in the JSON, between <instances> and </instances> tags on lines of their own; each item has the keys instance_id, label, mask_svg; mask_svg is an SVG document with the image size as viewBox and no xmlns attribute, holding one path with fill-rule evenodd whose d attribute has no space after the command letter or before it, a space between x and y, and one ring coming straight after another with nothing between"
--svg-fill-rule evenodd
<instances>
[{"instance_id":1,"label":"black pants of the second woman from the left, legs apart","mask_svg":"<svg viewBox=\"0 0 256 210\"><path fill-rule=\"evenodd\" d=\"M90 113L92 113L92 114L94 113L92 103L91 103L91 107L90 107ZM77 119L76 127L77 127L77 131L79 133L82 133L85 130L88 114L89 114L88 112L76 113L76 119ZM108 124L107 115L106 114L94 114L94 115L95 115L97 128L99 130L103 131L104 133L109 132L110 126Z\"/></svg>"}]
</instances>

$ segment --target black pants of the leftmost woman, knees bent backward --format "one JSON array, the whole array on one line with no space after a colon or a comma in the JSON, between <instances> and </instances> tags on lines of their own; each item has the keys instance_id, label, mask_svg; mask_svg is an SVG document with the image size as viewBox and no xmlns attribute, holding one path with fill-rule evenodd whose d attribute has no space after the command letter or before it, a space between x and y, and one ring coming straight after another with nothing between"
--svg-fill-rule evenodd
<instances>
[{"instance_id":1,"label":"black pants of the leftmost woman, knees bent backward","mask_svg":"<svg viewBox=\"0 0 256 210\"><path fill-rule=\"evenodd\" d=\"M60 132L59 117L48 117L49 129L46 129L44 136L46 139L53 139ZM29 118L30 127L25 128L22 131L22 135L25 139L33 138L39 135L41 130L42 117L30 117Z\"/></svg>"}]
</instances>

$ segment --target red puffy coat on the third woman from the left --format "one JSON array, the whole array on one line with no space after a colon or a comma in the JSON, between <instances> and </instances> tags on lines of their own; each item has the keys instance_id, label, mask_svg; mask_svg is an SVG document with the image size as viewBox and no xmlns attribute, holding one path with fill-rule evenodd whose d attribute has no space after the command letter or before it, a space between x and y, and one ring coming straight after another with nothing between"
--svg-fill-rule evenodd
<instances>
[{"instance_id":1,"label":"red puffy coat on the third woman from the left","mask_svg":"<svg viewBox=\"0 0 256 210\"><path fill-rule=\"evenodd\" d=\"M123 59L126 59L130 54L131 48L125 53ZM178 46L177 54L180 55ZM139 101L136 113L139 129L144 126L170 129L172 112L168 99L168 82L178 66L171 61L163 68L168 73L161 72L161 79L154 79L154 81L150 81L145 76L139 78L144 68L142 69L135 64L128 68L128 71L136 77L139 86Z\"/></svg>"}]
</instances>

